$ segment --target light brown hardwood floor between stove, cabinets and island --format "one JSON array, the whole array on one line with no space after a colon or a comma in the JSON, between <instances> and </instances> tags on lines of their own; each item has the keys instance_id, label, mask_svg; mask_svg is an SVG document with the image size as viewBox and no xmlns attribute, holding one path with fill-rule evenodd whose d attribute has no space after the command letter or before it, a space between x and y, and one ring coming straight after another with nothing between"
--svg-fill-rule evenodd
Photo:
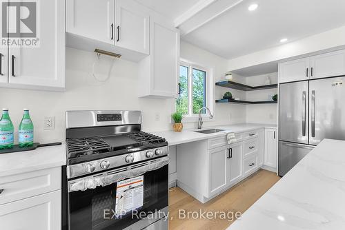
<instances>
[{"instance_id":1,"label":"light brown hardwood floor between stove, cabinets and island","mask_svg":"<svg viewBox=\"0 0 345 230\"><path fill-rule=\"evenodd\" d=\"M177 187L175 190L169 192L169 230L226 229L233 221L221 218L220 216L212 220L208 218L179 219L179 210L185 210L185 214L188 211L200 213L200 210L212 211L213 213L215 211L233 211L233 213L240 211L244 213L244 211L253 205L278 180L279 176L277 174L260 169L255 174L246 178L246 180L239 182L235 187L232 187L224 192L224 194L217 196L205 204L202 204L193 198L193 196L190 196ZM195 213L195 215L197 214Z\"/></svg>"}]
</instances>

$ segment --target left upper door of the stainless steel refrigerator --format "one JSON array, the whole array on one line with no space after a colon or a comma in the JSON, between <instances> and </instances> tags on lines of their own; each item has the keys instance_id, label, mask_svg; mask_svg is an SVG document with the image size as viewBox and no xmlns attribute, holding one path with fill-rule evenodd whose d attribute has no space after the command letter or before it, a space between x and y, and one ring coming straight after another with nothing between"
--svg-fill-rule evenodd
<instances>
[{"instance_id":1,"label":"left upper door of the stainless steel refrigerator","mask_svg":"<svg viewBox=\"0 0 345 230\"><path fill-rule=\"evenodd\" d=\"M308 144L308 81L279 85L279 140Z\"/></svg>"}]
</instances>

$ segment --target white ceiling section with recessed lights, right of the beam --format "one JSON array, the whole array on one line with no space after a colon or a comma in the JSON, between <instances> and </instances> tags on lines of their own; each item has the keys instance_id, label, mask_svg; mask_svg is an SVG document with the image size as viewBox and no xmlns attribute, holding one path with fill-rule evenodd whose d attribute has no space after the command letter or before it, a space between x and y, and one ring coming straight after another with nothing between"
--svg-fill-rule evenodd
<instances>
[{"instance_id":1,"label":"white ceiling section with recessed lights, right of the beam","mask_svg":"<svg viewBox=\"0 0 345 230\"><path fill-rule=\"evenodd\" d=\"M254 2L259 8L248 11ZM232 59L342 25L344 0L245 0L182 39Z\"/></svg>"}]
</instances>

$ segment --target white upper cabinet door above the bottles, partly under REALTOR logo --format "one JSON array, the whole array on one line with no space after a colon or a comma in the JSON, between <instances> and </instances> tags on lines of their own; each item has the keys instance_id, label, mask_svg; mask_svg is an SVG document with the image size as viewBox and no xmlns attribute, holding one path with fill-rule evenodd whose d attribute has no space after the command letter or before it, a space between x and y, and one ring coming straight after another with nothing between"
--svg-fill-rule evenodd
<instances>
[{"instance_id":1,"label":"white upper cabinet door above the bottles, partly under REALTOR logo","mask_svg":"<svg viewBox=\"0 0 345 230\"><path fill-rule=\"evenodd\" d=\"M65 1L39 1L39 47L10 48L9 83L65 87Z\"/></svg>"}]
</instances>

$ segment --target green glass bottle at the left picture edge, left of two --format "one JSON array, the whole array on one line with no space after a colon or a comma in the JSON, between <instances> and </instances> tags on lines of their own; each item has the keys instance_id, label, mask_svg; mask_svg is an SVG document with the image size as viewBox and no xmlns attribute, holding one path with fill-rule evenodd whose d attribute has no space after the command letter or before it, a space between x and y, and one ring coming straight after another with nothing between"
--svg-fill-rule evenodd
<instances>
[{"instance_id":1,"label":"green glass bottle at the left picture edge, left of two","mask_svg":"<svg viewBox=\"0 0 345 230\"><path fill-rule=\"evenodd\" d=\"M0 149L10 149L13 147L13 124L8 114L8 109L2 109L0 119Z\"/></svg>"}]
</instances>

